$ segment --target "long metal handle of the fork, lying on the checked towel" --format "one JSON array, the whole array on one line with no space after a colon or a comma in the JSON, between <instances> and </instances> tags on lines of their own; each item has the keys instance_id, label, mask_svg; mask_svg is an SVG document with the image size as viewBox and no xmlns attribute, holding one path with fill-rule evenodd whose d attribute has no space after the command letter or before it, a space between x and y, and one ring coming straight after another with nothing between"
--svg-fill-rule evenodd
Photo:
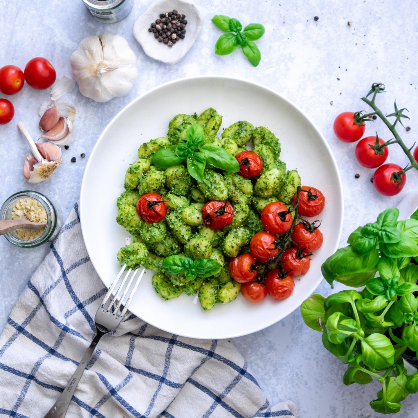
<instances>
[{"instance_id":1,"label":"long metal handle of the fork, lying on the checked towel","mask_svg":"<svg viewBox=\"0 0 418 418\"><path fill-rule=\"evenodd\" d=\"M97 343L100 341L104 334L101 332L97 332L94 336L92 343L90 344L89 348L87 349L86 353L84 354L80 364L76 368L74 375L72 375L68 385L66 385L65 389L56 400L52 408L48 411L44 418L64 418L65 414L67 413L67 409L71 403L71 399L74 395L78 382L80 381L84 370L86 370L87 363L93 356L94 349L97 346Z\"/></svg>"}]
</instances>

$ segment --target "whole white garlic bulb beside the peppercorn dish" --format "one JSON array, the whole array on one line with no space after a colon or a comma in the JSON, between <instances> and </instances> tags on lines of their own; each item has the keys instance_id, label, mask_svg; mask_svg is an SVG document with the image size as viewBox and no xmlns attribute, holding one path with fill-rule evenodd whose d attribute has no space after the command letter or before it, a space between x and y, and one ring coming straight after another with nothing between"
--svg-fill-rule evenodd
<instances>
[{"instance_id":1,"label":"whole white garlic bulb beside the peppercorn dish","mask_svg":"<svg viewBox=\"0 0 418 418\"><path fill-rule=\"evenodd\" d=\"M70 64L80 92L96 102L127 94L138 75L136 56L127 41L110 33L84 38Z\"/></svg>"}]
</instances>

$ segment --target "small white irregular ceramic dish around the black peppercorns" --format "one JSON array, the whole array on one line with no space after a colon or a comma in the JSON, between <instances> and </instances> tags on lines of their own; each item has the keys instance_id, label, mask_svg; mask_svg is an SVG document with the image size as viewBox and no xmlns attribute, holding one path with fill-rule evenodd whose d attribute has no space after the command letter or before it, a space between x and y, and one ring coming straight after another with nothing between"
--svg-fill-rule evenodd
<instances>
[{"instance_id":1,"label":"small white irregular ceramic dish around the black peppercorns","mask_svg":"<svg viewBox=\"0 0 418 418\"><path fill-rule=\"evenodd\" d=\"M160 17L160 13L177 10L186 15L186 36L169 47L158 42L154 33L148 32L150 24ZM203 14L199 6L191 0L157 0L152 3L145 13L133 25L133 36L142 46L145 54L166 64L176 64L193 46L203 26Z\"/></svg>"}]
</instances>

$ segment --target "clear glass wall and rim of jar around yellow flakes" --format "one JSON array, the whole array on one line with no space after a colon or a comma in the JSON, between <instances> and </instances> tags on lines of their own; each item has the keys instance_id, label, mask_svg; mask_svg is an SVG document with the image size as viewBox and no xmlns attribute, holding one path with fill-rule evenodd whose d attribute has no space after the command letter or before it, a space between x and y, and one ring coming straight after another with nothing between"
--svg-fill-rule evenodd
<instances>
[{"instance_id":1,"label":"clear glass wall and rim of jar around yellow flakes","mask_svg":"<svg viewBox=\"0 0 418 418\"><path fill-rule=\"evenodd\" d=\"M10 231L7 234L4 234L6 240L20 248L38 247L38 245L54 240L61 230L61 211L59 205L38 191L24 190L12 194L6 199L0 209L0 220L12 219L12 211L16 202L19 199L25 198L38 201L43 206L43 209L45 209L47 218L45 230L39 237L28 241L22 240L16 231Z\"/></svg>"}]
</instances>

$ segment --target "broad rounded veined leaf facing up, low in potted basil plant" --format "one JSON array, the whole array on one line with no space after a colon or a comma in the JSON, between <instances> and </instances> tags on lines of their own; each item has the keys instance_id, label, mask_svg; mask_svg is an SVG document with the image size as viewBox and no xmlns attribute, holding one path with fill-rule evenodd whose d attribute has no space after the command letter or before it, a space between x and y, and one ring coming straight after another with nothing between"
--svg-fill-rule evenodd
<instances>
[{"instance_id":1,"label":"broad rounded veined leaf facing up, low in potted basil plant","mask_svg":"<svg viewBox=\"0 0 418 418\"><path fill-rule=\"evenodd\" d=\"M383 334L371 334L362 340L362 360L366 366L375 370L392 366L395 349L390 339Z\"/></svg>"}]
</instances>

